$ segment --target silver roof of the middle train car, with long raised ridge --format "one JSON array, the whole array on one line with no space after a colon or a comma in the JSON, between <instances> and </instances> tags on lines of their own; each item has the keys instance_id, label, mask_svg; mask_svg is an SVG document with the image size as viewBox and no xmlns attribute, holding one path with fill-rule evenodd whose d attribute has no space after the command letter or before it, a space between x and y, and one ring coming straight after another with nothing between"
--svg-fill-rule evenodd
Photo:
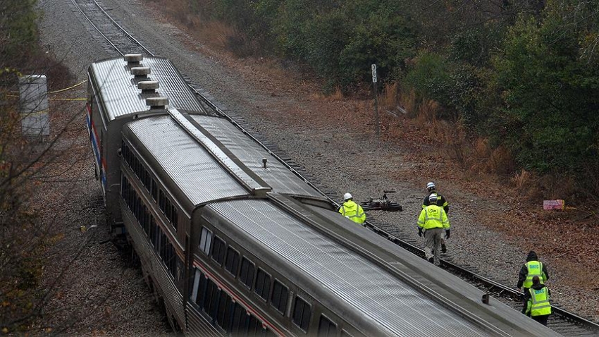
<instances>
[{"instance_id":1,"label":"silver roof of the middle train car, with long raised ridge","mask_svg":"<svg viewBox=\"0 0 599 337\"><path fill-rule=\"evenodd\" d=\"M185 201L187 212L213 200L250 196L252 187L322 197L225 119L168 113L131 121L123 135L177 200Z\"/></svg>"}]
</instances>

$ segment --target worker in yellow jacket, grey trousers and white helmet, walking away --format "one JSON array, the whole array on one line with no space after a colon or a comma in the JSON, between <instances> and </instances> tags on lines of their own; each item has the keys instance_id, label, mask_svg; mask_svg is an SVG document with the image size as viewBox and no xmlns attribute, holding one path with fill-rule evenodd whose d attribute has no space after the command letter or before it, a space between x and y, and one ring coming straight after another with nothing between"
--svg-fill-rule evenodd
<instances>
[{"instance_id":1,"label":"worker in yellow jacket, grey trousers and white helmet, walking away","mask_svg":"<svg viewBox=\"0 0 599 337\"><path fill-rule=\"evenodd\" d=\"M419 236L424 233L424 256L428 262L438 265L441 235L445 229L445 238L450 238L450 222L443 207L437 205L437 195L431 194L428 200L431 201L431 204L422 209L416 226Z\"/></svg>"}]
</instances>

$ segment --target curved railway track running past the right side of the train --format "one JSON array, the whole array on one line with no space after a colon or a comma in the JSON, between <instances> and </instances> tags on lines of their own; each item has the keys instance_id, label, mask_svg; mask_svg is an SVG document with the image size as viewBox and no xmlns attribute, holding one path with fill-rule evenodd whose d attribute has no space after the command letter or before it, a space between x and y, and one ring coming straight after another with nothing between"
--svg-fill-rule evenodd
<instances>
[{"instance_id":1,"label":"curved railway track running past the right side of the train","mask_svg":"<svg viewBox=\"0 0 599 337\"><path fill-rule=\"evenodd\" d=\"M71 0L71 2L73 3L75 9L85 18L85 20L87 20L89 25L91 25L92 28L106 40L106 43L109 44L109 47L114 49L118 54L139 54L140 51L142 51L142 54L147 56L155 56L152 51L147 49L147 47L144 47L140 41L135 39L135 37L130 35L130 33L127 32L121 25L119 25L116 20L111 18L109 13L105 11L96 0ZM335 200L340 200L337 192L333 190L327 190L326 188L319 188L319 185L321 184L318 182L318 180L294 164L292 159L286 157L285 154L276 147L276 145L264 140L254 130L252 130L252 128L247 127L247 125L242 125L243 118L241 116L237 116L231 111L221 110L218 108L218 106L216 106L216 104L214 104L214 99L212 99L209 94L204 92L204 90L197 88L197 86L194 85L192 80L189 78L186 78L186 80L190 87L192 87L194 92L196 92L198 97L202 100L202 102L204 102L204 104L209 106L211 109L218 111L219 114L237 126L237 128L242 130L243 133L249 135L250 137L254 138L254 140L259 142L260 145L264 147L264 149L266 149L270 154L273 154L273 156L284 161L285 165L288 166L288 169L302 178L302 180L304 180L307 184L316 190L319 190L324 195L327 195L327 197L335 204L338 204L335 202ZM376 220L368 221L366 226L372 231L378 233L378 235L387 238L396 245L400 245L406 250L413 252L415 255L424 257L424 250L416 247L416 243L413 240L402 237L402 235L397 232L395 226L379 223ZM458 266L457 264L452 263L450 258L441 259L441 267L447 271L450 271L452 274L467 280L469 283L485 291L486 293L493 295L493 297L498 298L498 300L505 302L507 305L513 307L514 310L520 310L520 297L522 294L517 290L476 274L474 271L469 271L462 266ZM579 317L578 315L568 312L567 310L555 305L552 307L552 311L553 314L550 317L548 327L557 333L560 333L564 336L597 336L599 333L599 324L593 321Z\"/></svg>"}]
</instances>

